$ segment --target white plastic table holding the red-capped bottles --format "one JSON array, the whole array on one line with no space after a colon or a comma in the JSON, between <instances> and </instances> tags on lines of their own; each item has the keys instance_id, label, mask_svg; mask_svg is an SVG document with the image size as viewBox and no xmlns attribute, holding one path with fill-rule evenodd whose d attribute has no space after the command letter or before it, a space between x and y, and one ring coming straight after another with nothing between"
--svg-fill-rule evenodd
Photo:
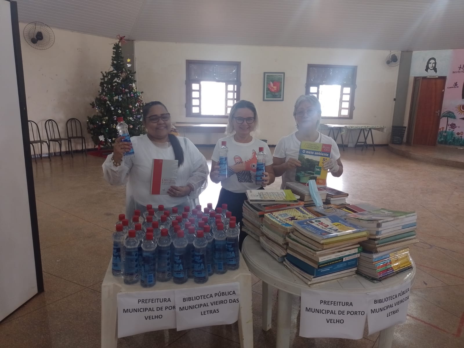
<instances>
[{"instance_id":1,"label":"white plastic table holding the red-capped bottles","mask_svg":"<svg viewBox=\"0 0 464 348\"><path fill-rule=\"evenodd\" d=\"M111 260L102 283L102 348L117 347L117 294L118 292L171 290L197 288L201 286L240 283L240 308L238 309L238 335L241 348L253 347L253 315L251 313L251 274L242 256L240 267L225 274L214 274L206 284L196 284L189 279L185 284L174 282L157 282L151 288L143 288L140 284L124 284L122 277L114 277L111 273ZM154 343L155 344L155 343Z\"/></svg>"}]
</instances>

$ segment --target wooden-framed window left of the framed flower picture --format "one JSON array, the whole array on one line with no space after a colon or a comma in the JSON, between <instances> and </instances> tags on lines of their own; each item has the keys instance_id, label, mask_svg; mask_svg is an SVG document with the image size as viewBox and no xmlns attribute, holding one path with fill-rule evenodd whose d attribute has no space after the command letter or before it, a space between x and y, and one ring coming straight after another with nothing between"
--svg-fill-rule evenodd
<instances>
[{"instance_id":1,"label":"wooden-framed window left of the framed flower picture","mask_svg":"<svg viewBox=\"0 0 464 348\"><path fill-rule=\"evenodd\" d=\"M187 117L227 118L240 100L240 62L187 60Z\"/></svg>"}]
</instances>

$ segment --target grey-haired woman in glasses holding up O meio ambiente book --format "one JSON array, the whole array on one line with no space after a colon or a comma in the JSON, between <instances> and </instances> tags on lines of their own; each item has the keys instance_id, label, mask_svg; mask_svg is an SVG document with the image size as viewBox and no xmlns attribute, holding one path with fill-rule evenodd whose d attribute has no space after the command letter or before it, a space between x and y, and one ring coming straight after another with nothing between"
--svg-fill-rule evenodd
<instances>
[{"instance_id":1,"label":"grey-haired woman in glasses holding up O meio ambiente book","mask_svg":"<svg viewBox=\"0 0 464 348\"><path fill-rule=\"evenodd\" d=\"M324 169L328 170L333 176L340 176L343 173L343 164L340 160L340 151L337 143L329 136L317 131L321 123L321 103L314 96L300 96L296 99L293 117L296 121L296 132L284 136L279 140L274 150L274 173L282 176L282 186L284 189L287 182L295 181L296 167L301 167L298 161L300 143L302 141L321 142L331 144L330 160L324 163Z\"/></svg>"}]
</instances>

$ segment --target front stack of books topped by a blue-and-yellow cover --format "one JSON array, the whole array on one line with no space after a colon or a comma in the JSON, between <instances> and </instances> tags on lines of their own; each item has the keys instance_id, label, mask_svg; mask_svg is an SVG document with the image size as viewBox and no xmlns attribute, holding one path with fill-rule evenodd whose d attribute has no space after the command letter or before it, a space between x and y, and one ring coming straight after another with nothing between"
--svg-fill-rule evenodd
<instances>
[{"instance_id":1,"label":"front stack of books topped by a blue-and-yellow cover","mask_svg":"<svg viewBox=\"0 0 464 348\"><path fill-rule=\"evenodd\" d=\"M296 221L284 264L306 284L353 275L369 232L336 215Z\"/></svg>"}]
</instances>

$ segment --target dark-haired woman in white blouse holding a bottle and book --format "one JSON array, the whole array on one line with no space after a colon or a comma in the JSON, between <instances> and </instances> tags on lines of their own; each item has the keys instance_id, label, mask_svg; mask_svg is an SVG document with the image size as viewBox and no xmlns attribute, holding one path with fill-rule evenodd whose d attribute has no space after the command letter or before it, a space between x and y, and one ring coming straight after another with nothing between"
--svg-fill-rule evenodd
<instances>
[{"instance_id":1,"label":"dark-haired woman in white blouse holding a bottle and book","mask_svg":"<svg viewBox=\"0 0 464 348\"><path fill-rule=\"evenodd\" d=\"M111 185L126 184L126 216L132 216L135 209L145 211L148 204L162 204L169 210L176 206L180 211L184 206L195 207L207 185L205 156L187 138L169 134L171 115L163 103L145 104L143 125L147 134L131 137L132 145L117 138L113 153L103 163L105 180ZM135 155L126 158L123 154L131 146ZM178 161L176 186L171 186L168 194L150 192L153 159Z\"/></svg>"}]
</instances>

